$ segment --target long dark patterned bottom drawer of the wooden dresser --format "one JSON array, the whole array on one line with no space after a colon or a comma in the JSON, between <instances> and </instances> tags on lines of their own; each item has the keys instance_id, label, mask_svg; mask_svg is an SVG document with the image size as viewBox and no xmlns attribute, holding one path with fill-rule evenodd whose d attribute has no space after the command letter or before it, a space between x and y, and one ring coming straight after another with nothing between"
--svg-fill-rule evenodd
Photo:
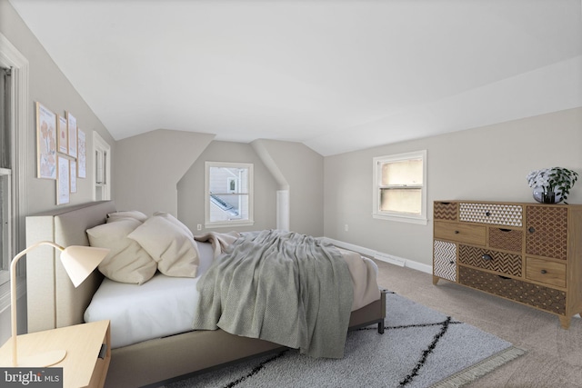
<instances>
[{"instance_id":1,"label":"long dark patterned bottom drawer of the wooden dresser","mask_svg":"<svg viewBox=\"0 0 582 388\"><path fill-rule=\"evenodd\" d=\"M566 313L566 293L543 285L530 284L517 279L504 279L496 274L488 274L467 267L459 267L459 283L526 303L547 312L560 315Z\"/></svg>"}]
</instances>

